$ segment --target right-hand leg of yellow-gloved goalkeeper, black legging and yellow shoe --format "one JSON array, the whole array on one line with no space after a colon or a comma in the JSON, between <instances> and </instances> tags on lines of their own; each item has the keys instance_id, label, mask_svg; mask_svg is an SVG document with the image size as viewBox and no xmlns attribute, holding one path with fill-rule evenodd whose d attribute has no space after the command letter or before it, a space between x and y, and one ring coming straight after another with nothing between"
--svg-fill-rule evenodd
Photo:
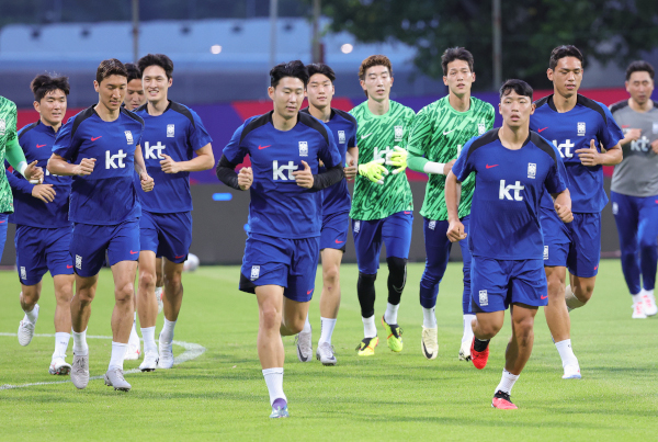
<instances>
[{"instance_id":1,"label":"right-hand leg of yellow-gloved goalkeeper, black legging and yellow shoe","mask_svg":"<svg viewBox=\"0 0 658 442\"><path fill-rule=\"evenodd\" d=\"M388 264L388 303L382 317L386 330L386 343L393 351L402 351L402 329L398 326L397 313L405 284L407 283L407 259L411 247L413 212L398 212L383 220L382 238L386 245Z\"/></svg>"}]
</instances>

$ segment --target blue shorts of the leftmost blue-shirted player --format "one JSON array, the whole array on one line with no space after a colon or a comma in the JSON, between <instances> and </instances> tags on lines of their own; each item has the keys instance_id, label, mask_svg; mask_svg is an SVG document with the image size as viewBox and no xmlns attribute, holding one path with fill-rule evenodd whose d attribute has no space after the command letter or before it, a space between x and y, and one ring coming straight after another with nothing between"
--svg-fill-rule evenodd
<instances>
[{"instance_id":1,"label":"blue shorts of the leftmost blue-shirted player","mask_svg":"<svg viewBox=\"0 0 658 442\"><path fill-rule=\"evenodd\" d=\"M50 275L73 274L73 261L69 253L71 228L41 228L16 226L16 269L23 285L38 284Z\"/></svg>"}]
</instances>

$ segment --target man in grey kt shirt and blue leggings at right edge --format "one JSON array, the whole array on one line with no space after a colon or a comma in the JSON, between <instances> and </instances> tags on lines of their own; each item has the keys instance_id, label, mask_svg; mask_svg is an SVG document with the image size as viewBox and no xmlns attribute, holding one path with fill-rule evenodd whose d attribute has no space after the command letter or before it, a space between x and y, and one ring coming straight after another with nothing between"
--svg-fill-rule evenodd
<instances>
[{"instance_id":1,"label":"man in grey kt shirt and blue leggings at right edge","mask_svg":"<svg viewBox=\"0 0 658 442\"><path fill-rule=\"evenodd\" d=\"M634 319L658 313L654 297L658 263L658 109L651 100L654 73L648 63L633 61L626 69L631 98L610 107L625 134L620 141L624 159L614 168L610 199Z\"/></svg>"}]
</instances>

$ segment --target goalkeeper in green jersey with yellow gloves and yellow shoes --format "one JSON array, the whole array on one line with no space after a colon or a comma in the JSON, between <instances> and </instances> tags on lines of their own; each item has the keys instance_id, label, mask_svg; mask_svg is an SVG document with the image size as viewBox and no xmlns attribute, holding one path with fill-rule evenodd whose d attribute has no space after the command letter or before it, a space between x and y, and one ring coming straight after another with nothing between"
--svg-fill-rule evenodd
<instances>
[{"instance_id":1,"label":"goalkeeper in green jersey with yellow gloves and yellow shoes","mask_svg":"<svg viewBox=\"0 0 658 442\"><path fill-rule=\"evenodd\" d=\"M375 325L375 280L382 243L386 245L388 263L388 305L382 325L388 348L402 351L402 329L398 326L397 313L407 280L413 220L411 188L404 172L409 129L416 113L390 100L393 68L386 56L372 55L364 59L359 79L367 100L350 111L359 125L360 162L350 217L364 331L356 351L360 356L372 356L379 342Z\"/></svg>"}]
</instances>

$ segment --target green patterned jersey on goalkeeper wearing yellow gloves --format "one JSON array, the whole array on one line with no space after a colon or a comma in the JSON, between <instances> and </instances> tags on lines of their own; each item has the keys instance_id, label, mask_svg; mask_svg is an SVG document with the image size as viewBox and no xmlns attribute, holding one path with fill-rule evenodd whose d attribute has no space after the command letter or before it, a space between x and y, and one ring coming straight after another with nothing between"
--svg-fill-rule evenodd
<instances>
[{"instance_id":1,"label":"green patterned jersey on goalkeeper wearing yellow gloves","mask_svg":"<svg viewBox=\"0 0 658 442\"><path fill-rule=\"evenodd\" d=\"M390 107L384 115L374 115L367 107L367 101L350 111L356 118L356 145L359 163L363 165L386 154L395 146L407 148L409 131L416 117L412 109L390 100ZM393 174L394 167L384 177L379 185L365 177L356 175L352 196L352 219L383 219L401 211L412 211L411 188L405 172Z\"/></svg>"}]
</instances>

